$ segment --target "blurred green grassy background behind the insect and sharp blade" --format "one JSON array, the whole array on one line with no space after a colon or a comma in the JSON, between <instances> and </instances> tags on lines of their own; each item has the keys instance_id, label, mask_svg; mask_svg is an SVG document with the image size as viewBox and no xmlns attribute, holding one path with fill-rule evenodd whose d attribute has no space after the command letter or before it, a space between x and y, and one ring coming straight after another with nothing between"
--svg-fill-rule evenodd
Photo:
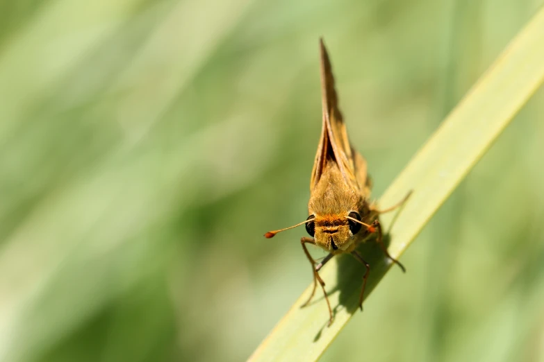
<instances>
[{"instance_id":1,"label":"blurred green grassy background behind the insect and sharp blade","mask_svg":"<svg viewBox=\"0 0 544 362\"><path fill-rule=\"evenodd\" d=\"M0 361L247 359L311 282L263 233L307 216L318 37L379 197L542 3L1 0ZM543 115L322 361L544 361Z\"/></svg>"}]
</instances>

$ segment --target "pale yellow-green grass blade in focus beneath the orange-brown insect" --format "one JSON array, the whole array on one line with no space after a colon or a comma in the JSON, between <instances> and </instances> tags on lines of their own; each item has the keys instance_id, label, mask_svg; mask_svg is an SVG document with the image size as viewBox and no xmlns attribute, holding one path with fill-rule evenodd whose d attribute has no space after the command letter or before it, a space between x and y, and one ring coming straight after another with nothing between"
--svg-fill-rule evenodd
<instances>
[{"instance_id":1,"label":"pale yellow-green grass blade in focus beneath the orange-brown insect","mask_svg":"<svg viewBox=\"0 0 544 362\"><path fill-rule=\"evenodd\" d=\"M389 231L389 252L393 257L399 257L415 239L543 80L544 9L541 9L380 199L380 205L387 207L413 190L411 198L398 214L381 218L385 230ZM395 223L392 223L393 218L396 218ZM390 264L371 243L363 245L362 252L372 268L365 296L368 297ZM321 275L327 283L331 306L335 309L333 325L327 327L327 306L319 291L313 303L300 308L311 292L311 286L308 286L250 360L317 360L358 311L362 273L363 268L349 257L332 259L322 269Z\"/></svg>"}]
</instances>

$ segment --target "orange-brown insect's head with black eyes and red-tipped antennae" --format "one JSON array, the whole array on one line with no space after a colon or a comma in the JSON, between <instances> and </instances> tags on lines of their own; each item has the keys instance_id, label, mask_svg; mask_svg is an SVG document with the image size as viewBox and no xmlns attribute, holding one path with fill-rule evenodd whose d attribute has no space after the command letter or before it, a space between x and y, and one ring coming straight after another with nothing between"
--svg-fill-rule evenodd
<instances>
[{"instance_id":1,"label":"orange-brown insect's head with black eyes and red-tipped antennae","mask_svg":"<svg viewBox=\"0 0 544 362\"><path fill-rule=\"evenodd\" d=\"M314 238L315 245L333 254L343 252L352 246L356 234L361 232L363 226L366 227L365 230L372 228L371 225L361 221L361 215L358 212L349 212L347 215L320 216L312 214L302 223L267 232L265 236L271 238L278 232L303 224L306 225L306 232Z\"/></svg>"}]
</instances>

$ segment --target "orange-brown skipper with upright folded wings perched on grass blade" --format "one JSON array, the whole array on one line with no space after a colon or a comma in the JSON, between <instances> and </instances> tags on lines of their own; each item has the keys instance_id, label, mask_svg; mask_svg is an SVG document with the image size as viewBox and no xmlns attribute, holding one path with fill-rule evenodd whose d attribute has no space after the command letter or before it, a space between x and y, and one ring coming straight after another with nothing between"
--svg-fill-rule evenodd
<instances>
[{"instance_id":1,"label":"orange-brown skipper with upright folded wings perched on grass blade","mask_svg":"<svg viewBox=\"0 0 544 362\"><path fill-rule=\"evenodd\" d=\"M376 209L370 202L371 184L367 175L366 162L349 143L342 113L338 108L331 62L322 39L320 54L323 119L318 153L315 155L310 181L310 201L308 202L310 216L302 223L267 232L265 236L271 238L278 232L306 224L306 231L313 237L302 237L300 241L312 267L313 291L304 306L313 298L319 282L329 307L330 325L333 320L331 304L324 288L325 283L318 271L333 256L343 253L351 253L355 259L364 264L366 270L359 296L359 306L362 310L363 294L370 266L356 248L370 234L376 233L376 241L384 250L385 255L404 271L404 266L389 255L383 243L378 216L402 205L406 198L398 205L384 210ZM306 244L318 245L329 254L317 263L308 252Z\"/></svg>"}]
</instances>

